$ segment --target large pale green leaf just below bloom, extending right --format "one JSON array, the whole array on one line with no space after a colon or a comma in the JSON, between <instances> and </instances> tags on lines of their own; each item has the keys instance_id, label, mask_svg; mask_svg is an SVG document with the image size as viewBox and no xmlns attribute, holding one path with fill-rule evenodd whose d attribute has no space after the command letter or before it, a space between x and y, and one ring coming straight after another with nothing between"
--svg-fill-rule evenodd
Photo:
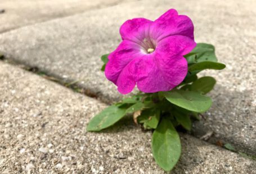
<instances>
[{"instance_id":1,"label":"large pale green leaf just below bloom, extending right","mask_svg":"<svg viewBox=\"0 0 256 174\"><path fill-rule=\"evenodd\" d=\"M165 92L165 98L188 111L205 112L212 106L212 99L196 91L171 90Z\"/></svg>"}]
</instances>

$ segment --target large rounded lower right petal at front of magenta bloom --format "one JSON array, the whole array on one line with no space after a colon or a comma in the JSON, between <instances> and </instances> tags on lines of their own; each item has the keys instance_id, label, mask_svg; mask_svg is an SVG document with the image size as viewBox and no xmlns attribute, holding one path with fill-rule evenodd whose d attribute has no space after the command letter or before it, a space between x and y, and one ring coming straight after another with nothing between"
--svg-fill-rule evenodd
<instances>
[{"instance_id":1,"label":"large rounded lower right petal at front of magenta bloom","mask_svg":"<svg viewBox=\"0 0 256 174\"><path fill-rule=\"evenodd\" d=\"M137 72L138 89L145 93L168 91L187 75L187 61L179 55L154 52L143 58Z\"/></svg>"}]
</instances>

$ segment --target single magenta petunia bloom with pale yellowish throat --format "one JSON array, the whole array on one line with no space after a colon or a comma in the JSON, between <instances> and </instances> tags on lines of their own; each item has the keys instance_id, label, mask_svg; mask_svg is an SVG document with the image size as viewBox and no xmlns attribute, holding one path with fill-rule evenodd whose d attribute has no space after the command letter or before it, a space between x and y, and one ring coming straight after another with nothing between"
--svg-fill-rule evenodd
<instances>
[{"instance_id":1,"label":"single magenta petunia bloom with pale yellowish throat","mask_svg":"<svg viewBox=\"0 0 256 174\"><path fill-rule=\"evenodd\" d=\"M168 91L185 79L188 66L183 56L196 46L189 17L170 9L155 21L128 20L120 34L123 41L109 54L105 68L120 93L130 93L136 84L145 93Z\"/></svg>"}]
</instances>

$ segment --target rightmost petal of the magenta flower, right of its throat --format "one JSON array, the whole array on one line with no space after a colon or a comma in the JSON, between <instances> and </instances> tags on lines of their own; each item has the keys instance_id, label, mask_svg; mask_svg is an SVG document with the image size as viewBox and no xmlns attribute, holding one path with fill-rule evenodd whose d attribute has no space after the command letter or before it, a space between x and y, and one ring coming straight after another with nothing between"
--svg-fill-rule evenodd
<instances>
[{"instance_id":1,"label":"rightmost petal of the magenta flower, right of its throat","mask_svg":"<svg viewBox=\"0 0 256 174\"><path fill-rule=\"evenodd\" d=\"M168 54L179 54L184 56L196 47L194 39L187 36L174 35L168 36L158 43L157 49Z\"/></svg>"}]
</instances>

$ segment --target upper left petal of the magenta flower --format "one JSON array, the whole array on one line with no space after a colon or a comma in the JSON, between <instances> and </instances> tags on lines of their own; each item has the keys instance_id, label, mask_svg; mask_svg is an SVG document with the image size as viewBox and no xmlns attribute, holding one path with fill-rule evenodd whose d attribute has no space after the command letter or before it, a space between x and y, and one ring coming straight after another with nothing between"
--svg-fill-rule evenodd
<instances>
[{"instance_id":1,"label":"upper left petal of the magenta flower","mask_svg":"<svg viewBox=\"0 0 256 174\"><path fill-rule=\"evenodd\" d=\"M134 18L127 20L120 28L120 34L123 40L133 40L134 42L140 42L137 37L143 37L145 35L146 26L152 21L145 18ZM143 39L143 38L142 38Z\"/></svg>"}]
</instances>

